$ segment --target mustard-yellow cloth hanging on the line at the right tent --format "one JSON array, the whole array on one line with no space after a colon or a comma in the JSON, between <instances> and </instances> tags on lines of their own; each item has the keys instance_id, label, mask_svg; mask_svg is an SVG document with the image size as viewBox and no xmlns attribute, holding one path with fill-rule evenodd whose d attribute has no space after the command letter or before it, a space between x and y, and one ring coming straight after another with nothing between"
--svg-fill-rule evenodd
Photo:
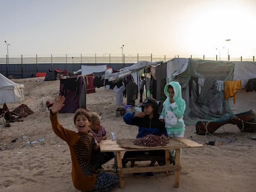
<instances>
[{"instance_id":1,"label":"mustard-yellow cloth hanging on the line at the right tent","mask_svg":"<svg viewBox=\"0 0 256 192\"><path fill-rule=\"evenodd\" d=\"M233 97L233 102L236 104L236 93L241 89L241 80L238 81L225 81L224 93L225 99Z\"/></svg>"}]
</instances>

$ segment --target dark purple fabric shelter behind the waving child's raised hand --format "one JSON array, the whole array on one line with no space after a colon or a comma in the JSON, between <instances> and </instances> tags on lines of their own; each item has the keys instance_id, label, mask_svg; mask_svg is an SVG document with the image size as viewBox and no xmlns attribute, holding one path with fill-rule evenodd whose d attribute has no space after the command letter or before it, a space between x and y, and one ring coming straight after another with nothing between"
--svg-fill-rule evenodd
<instances>
[{"instance_id":1,"label":"dark purple fabric shelter behind the waving child's raised hand","mask_svg":"<svg viewBox=\"0 0 256 192\"><path fill-rule=\"evenodd\" d=\"M86 92L85 77L62 78L59 94L65 96L65 102L59 113L74 113L79 108L86 109Z\"/></svg>"}]
</instances>

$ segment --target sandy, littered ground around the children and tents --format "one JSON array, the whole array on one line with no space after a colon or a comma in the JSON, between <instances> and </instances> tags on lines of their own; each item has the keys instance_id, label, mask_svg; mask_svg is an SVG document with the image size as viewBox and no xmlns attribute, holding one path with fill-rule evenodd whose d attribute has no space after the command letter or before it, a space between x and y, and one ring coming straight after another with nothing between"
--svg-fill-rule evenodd
<instances>
[{"instance_id":1,"label":"sandy, littered ground around the children and tents","mask_svg":"<svg viewBox=\"0 0 256 192\"><path fill-rule=\"evenodd\" d=\"M71 180L70 154L67 144L54 135L49 121L47 100L53 101L59 93L59 80L41 81L43 78L14 80L25 85L25 101L7 104L14 109L27 104L34 111L23 122L0 125L0 191L77 191ZM236 104L230 99L236 113L253 109L256 112L256 92L240 90ZM116 117L115 93L104 88L87 94L87 108L101 114L108 138L111 131L117 138L135 138L137 127L126 125L122 117ZM0 106L2 107L2 106ZM59 121L74 130L74 114L59 114ZM216 140L215 146L184 149L179 188L174 188L174 175L155 173L154 178L133 177L126 174L124 188L113 191L247 191L256 189L256 141L250 139L256 133L240 132L236 125L226 124L213 135L196 135L195 127L186 127L186 138L198 143ZM17 139L16 139L17 138ZM15 142L11 142L16 139ZM43 141L40 141L43 140ZM231 140L231 143L224 143ZM38 143L25 146L27 141ZM113 161L104 165L112 170Z\"/></svg>"}]
</instances>

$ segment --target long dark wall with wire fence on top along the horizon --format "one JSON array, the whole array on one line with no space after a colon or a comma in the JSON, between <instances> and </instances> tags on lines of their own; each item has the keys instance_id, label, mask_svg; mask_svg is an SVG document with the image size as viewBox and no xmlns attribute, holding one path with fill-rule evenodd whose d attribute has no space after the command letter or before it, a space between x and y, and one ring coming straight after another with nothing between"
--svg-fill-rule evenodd
<instances>
[{"instance_id":1,"label":"long dark wall with wire fence on top along the horizon","mask_svg":"<svg viewBox=\"0 0 256 192\"><path fill-rule=\"evenodd\" d=\"M14 78L28 78L35 73L46 72L49 69L61 69L74 72L81 69L82 64L107 64L114 70L127 67L139 61L169 61L174 57L204 59L211 61L255 61L252 57L218 57L216 56L167 56L153 54L79 54L79 55L34 55L34 56L0 56L0 72L12 75Z\"/></svg>"}]
</instances>

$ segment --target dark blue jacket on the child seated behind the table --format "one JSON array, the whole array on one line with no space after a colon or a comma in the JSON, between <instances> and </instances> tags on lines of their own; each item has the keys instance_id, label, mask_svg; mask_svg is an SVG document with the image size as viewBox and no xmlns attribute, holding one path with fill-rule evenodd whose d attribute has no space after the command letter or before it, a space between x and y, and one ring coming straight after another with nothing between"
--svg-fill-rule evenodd
<instances>
[{"instance_id":1,"label":"dark blue jacket on the child seated behind the table","mask_svg":"<svg viewBox=\"0 0 256 192\"><path fill-rule=\"evenodd\" d=\"M164 128L164 123L160 122L159 115L155 115L153 119L149 119L146 115L145 117L134 117L134 112L127 113L123 116L124 122L128 125L137 125L139 127L139 133L136 138L142 138L148 134L153 135L166 135L167 132Z\"/></svg>"}]
</instances>

